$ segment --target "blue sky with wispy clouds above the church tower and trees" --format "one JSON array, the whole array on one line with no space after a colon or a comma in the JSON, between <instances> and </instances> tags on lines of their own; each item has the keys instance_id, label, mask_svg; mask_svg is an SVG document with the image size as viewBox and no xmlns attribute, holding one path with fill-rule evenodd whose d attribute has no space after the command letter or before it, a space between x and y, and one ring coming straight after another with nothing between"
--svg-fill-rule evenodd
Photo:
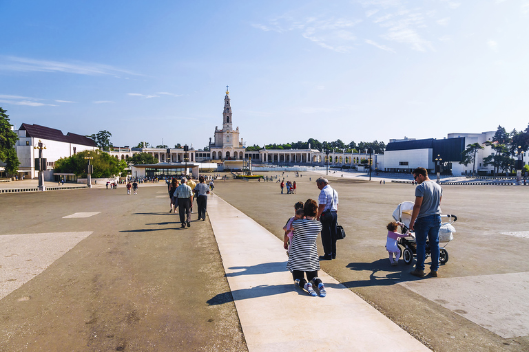
<instances>
[{"instance_id":1,"label":"blue sky with wispy clouds above the church tower and trees","mask_svg":"<svg viewBox=\"0 0 529 352\"><path fill-rule=\"evenodd\" d=\"M529 0L0 0L16 128L195 149L526 129Z\"/></svg>"}]
</instances>

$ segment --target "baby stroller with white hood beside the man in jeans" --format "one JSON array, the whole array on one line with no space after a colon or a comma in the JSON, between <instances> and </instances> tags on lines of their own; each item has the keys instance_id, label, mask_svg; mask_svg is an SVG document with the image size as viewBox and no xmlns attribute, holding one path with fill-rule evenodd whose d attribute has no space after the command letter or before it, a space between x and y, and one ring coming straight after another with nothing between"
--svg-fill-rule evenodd
<instances>
[{"instance_id":1,"label":"baby stroller with white hood beside the man in jeans","mask_svg":"<svg viewBox=\"0 0 529 352\"><path fill-rule=\"evenodd\" d=\"M404 263L408 265L413 261L413 257L417 256L415 233L409 232L413 205L413 201L403 201L399 204L399 206L397 206L397 209L393 211L393 219L395 219L395 221L404 223L404 228L402 228L401 233L409 233L409 236L398 239L398 246L402 254L402 259L404 259ZM448 242L454 239L452 233L455 232L455 228L452 224L457 221L457 217L451 214L441 215L441 217L447 218L448 221L441 223L441 228L439 228L439 262L446 263L448 262L448 251L445 249L445 247L448 245ZM441 246L441 243L445 244ZM430 245L428 245L428 241L426 241L426 258L428 258L428 256L431 256L431 250Z\"/></svg>"}]
</instances>

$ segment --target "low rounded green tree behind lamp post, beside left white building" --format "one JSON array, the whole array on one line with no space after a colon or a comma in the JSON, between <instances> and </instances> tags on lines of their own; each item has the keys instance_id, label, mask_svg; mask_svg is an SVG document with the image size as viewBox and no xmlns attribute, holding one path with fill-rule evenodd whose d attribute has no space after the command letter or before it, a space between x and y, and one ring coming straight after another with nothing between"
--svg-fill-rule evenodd
<instances>
[{"instance_id":1,"label":"low rounded green tree behind lamp post, beside left white building","mask_svg":"<svg viewBox=\"0 0 529 352\"><path fill-rule=\"evenodd\" d=\"M90 164L94 166L92 177L114 177L125 173L127 163L125 160L112 157L109 153L102 151L81 151L72 155L71 157L61 157L55 162L55 171L59 173L73 173L76 176L86 175L86 166L88 164L85 157L89 156L93 159Z\"/></svg>"}]
</instances>

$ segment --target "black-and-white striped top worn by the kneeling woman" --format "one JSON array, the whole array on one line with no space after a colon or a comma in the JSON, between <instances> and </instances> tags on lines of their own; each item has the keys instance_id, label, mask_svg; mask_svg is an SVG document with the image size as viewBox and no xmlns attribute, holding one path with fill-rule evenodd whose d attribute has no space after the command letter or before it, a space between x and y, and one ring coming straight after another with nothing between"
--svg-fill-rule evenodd
<instances>
[{"instance_id":1,"label":"black-and-white striped top worn by the kneeling woman","mask_svg":"<svg viewBox=\"0 0 529 352\"><path fill-rule=\"evenodd\" d=\"M289 250L287 269L291 272L293 270L302 272L320 270L316 239L322 230L322 223L315 219L301 219L293 221L292 227L294 236Z\"/></svg>"}]
</instances>

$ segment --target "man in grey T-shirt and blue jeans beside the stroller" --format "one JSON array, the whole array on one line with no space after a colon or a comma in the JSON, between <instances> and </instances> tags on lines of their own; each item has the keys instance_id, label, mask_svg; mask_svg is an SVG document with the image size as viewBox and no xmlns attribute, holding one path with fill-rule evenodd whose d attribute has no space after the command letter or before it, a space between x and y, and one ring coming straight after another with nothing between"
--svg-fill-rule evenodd
<instances>
[{"instance_id":1,"label":"man in grey T-shirt and blue jeans beside the stroller","mask_svg":"<svg viewBox=\"0 0 529 352\"><path fill-rule=\"evenodd\" d=\"M432 263L430 276L436 278L439 269L439 227L441 226L441 198L443 190L428 177L426 168L413 170L413 178L417 182L415 188L415 204L411 214L410 230L415 230L417 241L417 264L410 272L413 276L424 277L424 260L426 259L426 238L428 238Z\"/></svg>"}]
</instances>

